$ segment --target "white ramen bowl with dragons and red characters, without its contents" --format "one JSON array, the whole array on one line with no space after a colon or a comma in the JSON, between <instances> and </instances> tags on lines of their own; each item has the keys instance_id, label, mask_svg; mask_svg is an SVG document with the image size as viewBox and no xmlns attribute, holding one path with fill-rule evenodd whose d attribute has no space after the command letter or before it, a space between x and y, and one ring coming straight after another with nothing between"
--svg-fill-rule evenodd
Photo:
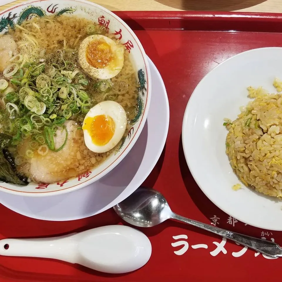
<instances>
[{"instance_id":1,"label":"white ramen bowl with dragons and red characters, without its contents","mask_svg":"<svg viewBox=\"0 0 282 282\"><path fill-rule=\"evenodd\" d=\"M57 2L50 0L29 1L1 12L0 33L5 33L8 28L14 24L20 24L27 18L54 14L85 17L105 26L110 33L117 33L116 37L120 38L120 42L130 52L136 69L136 78L139 81L139 98L141 103L138 111L139 114L136 117L137 122L132 125L127 138L124 139L120 148L103 164L92 171L77 178L69 179L66 183L49 185L30 183L27 186L1 183L0 190L4 192L26 196L50 196L80 189L100 179L120 163L135 144L146 122L151 98L151 75L147 56L135 33L111 11L83 0L60 0Z\"/></svg>"}]
</instances>

